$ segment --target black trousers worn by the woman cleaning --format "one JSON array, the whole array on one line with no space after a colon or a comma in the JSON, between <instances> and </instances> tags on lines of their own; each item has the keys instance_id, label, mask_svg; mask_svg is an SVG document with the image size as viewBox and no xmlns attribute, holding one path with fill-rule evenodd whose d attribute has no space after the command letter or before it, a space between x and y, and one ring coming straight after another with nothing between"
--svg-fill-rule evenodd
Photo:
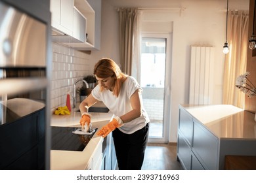
<instances>
[{"instance_id":1,"label":"black trousers worn by the woman cleaning","mask_svg":"<svg viewBox=\"0 0 256 183\"><path fill-rule=\"evenodd\" d=\"M119 170L140 170L148 142L149 123L132 134L119 129L112 132Z\"/></svg>"}]
</instances>

